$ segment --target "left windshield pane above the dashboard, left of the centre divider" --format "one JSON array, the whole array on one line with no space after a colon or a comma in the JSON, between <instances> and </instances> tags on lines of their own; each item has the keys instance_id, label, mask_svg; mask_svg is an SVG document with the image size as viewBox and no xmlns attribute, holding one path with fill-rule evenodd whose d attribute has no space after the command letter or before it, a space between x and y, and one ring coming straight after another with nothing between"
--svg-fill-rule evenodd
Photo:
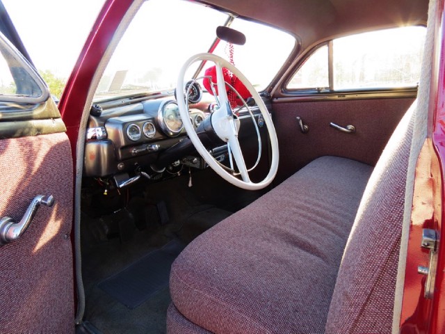
<instances>
[{"instance_id":1,"label":"left windshield pane above the dashboard, left of the centre divider","mask_svg":"<svg viewBox=\"0 0 445 334\"><path fill-rule=\"evenodd\" d=\"M227 15L196 3L150 0L139 8L115 49L96 97L176 87L185 61L205 52ZM197 29L196 22L206 29Z\"/></svg>"}]
</instances>

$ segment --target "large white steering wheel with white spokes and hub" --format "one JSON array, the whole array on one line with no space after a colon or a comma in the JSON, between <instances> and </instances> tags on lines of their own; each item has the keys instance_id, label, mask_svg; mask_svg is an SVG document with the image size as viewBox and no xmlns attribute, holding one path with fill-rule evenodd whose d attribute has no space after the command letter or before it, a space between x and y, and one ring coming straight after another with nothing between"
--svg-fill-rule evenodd
<instances>
[{"instance_id":1,"label":"large white steering wheel with white spokes and hub","mask_svg":"<svg viewBox=\"0 0 445 334\"><path fill-rule=\"evenodd\" d=\"M186 82L184 81L184 76L188 67L191 64L197 61L211 61L216 65L216 81L218 87L218 107L216 107L215 111L211 114L211 125L213 127L213 131L218 135L218 137L229 144L229 154L232 152L234 160L236 162L236 166L241 174L242 180L238 177L229 173L225 168L220 166L218 161L216 161L213 156L207 151L204 147L200 138L197 136L195 129L191 122L187 122L189 119L188 116L188 108L186 106L186 100L184 97L184 90L186 86ZM254 183L250 181L250 177L248 174L248 169L245 166L245 161L243 157L243 152L241 152L241 147L238 141L238 131L240 127L240 123L236 118L234 118L234 114L232 112L232 108L229 103L229 99L227 98L226 91L226 83L223 77L223 67L227 68L227 70L231 71L233 74L238 77L244 86L249 90L252 95L254 101L259 107L259 111L261 111L261 115L264 118L264 122L266 123L268 135L270 138L270 145L272 148L272 160L270 163L270 170L268 175L261 182ZM216 56L214 54L196 54L184 63L181 67L181 71L179 72L179 78L177 83L177 103L179 106L179 114L181 115L181 119L184 120L184 127L188 134L188 137L191 139L193 145L195 145L195 149L198 153L200 153L201 157L209 164L209 166L215 170L215 172L223 177L227 182L234 184L242 189L248 190L257 190L263 189L268 186L270 182L273 181L275 175L277 174L278 168L278 140L277 133L275 132L275 127L273 127L272 119L270 118L270 114L264 104L263 100L257 93L257 90L250 84L248 79L231 63L226 61L225 59Z\"/></svg>"}]
</instances>

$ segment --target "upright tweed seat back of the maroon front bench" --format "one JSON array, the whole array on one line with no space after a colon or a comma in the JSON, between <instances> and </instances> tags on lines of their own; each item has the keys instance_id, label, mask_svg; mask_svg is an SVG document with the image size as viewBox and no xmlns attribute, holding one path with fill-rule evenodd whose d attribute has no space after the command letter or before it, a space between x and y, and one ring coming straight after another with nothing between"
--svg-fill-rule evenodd
<instances>
[{"instance_id":1,"label":"upright tweed seat back of the maroon front bench","mask_svg":"<svg viewBox=\"0 0 445 334\"><path fill-rule=\"evenodd\" d=\"M341 260L326 333L391 333L415 108L414 102L364 191Z\"/></svg>"}]
</instances>

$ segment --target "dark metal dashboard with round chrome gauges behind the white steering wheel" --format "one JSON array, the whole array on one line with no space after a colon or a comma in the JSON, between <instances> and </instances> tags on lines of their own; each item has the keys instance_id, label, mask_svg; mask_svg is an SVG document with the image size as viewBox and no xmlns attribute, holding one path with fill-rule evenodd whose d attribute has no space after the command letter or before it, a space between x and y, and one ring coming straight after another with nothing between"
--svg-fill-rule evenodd
<instances>
[{"instance_id":1,"label":"dark metal dashboard with round chrome gauges behind the white steering wheel","mask_svg":"<svg viewBox=\"0 0 445 334\"><path fill-rule=\"evenodd\" d=\"M138 170L162 173L163 168L157 168L156 162L163 159L165 153L171 151L168 151L170 148L184 143L187 138L184 122L191 122L197 129L211 114L213 104L209 101L214 100L209 98L203 102L200 97L197 98L200 94L202 92L195 90L189 95L188 120L181 119L175 96L171 93L149 97L132 96L94 104L86 131L83 176L125 180L131 179L131 175L138 173ZM255 107L252 109L254 118L262 126L259 110ZM254 143L257 142L249 113L240 113L239 118L243 136L252 136ZM193 146L191 148L193 152L185 150L184 155L172 164L205 168L207 164ZM209 148L209 151L219 161L227 158L227 147L223 142Z\"/></svg>"}]
</instances>

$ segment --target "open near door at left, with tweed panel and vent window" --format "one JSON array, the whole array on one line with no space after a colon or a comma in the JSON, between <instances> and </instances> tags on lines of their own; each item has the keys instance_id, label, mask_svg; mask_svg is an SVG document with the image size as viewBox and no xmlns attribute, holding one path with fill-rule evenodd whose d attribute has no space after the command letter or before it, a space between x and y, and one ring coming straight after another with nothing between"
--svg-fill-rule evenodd
<instances>
[{"instance_id":1,"label":"open near door at left, with tweed panel and vent window","mask_svg":"<svg viewBox=\"0 0 445 334\"><path fill-rule=\"evenodd\" d=\"M70 142L47 86L2 33L0 67L0 332L72 333ZM39 195L54 196L54 205L28 212L16 238L9 224L24 223Z\"/></svg>"}]
</instances>

